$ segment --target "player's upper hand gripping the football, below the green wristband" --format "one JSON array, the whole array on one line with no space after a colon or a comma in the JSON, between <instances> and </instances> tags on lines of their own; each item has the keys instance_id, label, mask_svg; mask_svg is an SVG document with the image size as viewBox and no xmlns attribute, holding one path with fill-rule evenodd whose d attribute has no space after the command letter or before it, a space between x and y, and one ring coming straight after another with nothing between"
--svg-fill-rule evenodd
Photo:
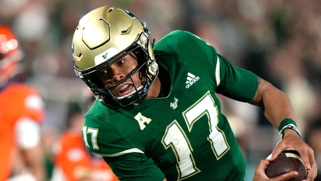
<instances>
[{"instance_id":1,"label":"player's upper hand gripping the football, below the green wristband","mask_svg":"<svg viewBox=\"0 0 321 181\"><path fill-rule=\"evenodd\" d=\"M285 130L284 137L276 145L274 151L272 152L272 157L269 160L275 160L284 150L296 150L299 152L305 167L308 169L308 174L306 177L307 181L314 180L317 177L317 163L314 159L314 152L312 148L306 144L294 130Z\"/></svg>"}]
</instances>

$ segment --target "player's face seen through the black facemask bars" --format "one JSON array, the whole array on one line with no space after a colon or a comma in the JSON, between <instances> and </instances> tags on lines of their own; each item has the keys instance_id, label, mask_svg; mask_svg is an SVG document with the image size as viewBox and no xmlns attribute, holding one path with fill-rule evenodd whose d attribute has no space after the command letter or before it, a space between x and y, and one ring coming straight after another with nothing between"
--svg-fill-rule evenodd
<instances>
[{"instance_id":1,"label":"player's face seen through the black facemask bars","mask_svg":"<svg viewBox=\"0 0 321 181\"><path fill-rule=\"evenodd\" d=\"M137 66L138 62L136 61L135 54L130 53L107 68L98 71L97 76L105 88L108 88L127 78L127 76L130 75ZM128 78L125 82L110 89L110 92L116 97L121 97L133 92L135 90L134 84L136 87L142 85L139 72L133 75L133 80L134 83L130 78Z\"/></svg>"}]
</instances>

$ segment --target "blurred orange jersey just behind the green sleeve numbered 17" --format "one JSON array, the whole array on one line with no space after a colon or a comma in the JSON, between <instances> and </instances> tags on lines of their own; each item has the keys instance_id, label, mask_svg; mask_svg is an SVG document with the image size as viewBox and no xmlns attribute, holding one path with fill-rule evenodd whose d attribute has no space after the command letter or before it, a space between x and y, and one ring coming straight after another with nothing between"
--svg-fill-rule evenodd
<instances>
[{"instance_id":1,"label":"blurred orange jersey just behind the green sleeve numbered 17","mask_svg":"<svg viewBox=\"0 0 321 181\"><path fill-rule=\"evenodd\" d=\"M56 167L62 169L67 181L118 181L101 156L86 150L81 131L65 132L54 156Z\"/></svg>"}]
</instances>

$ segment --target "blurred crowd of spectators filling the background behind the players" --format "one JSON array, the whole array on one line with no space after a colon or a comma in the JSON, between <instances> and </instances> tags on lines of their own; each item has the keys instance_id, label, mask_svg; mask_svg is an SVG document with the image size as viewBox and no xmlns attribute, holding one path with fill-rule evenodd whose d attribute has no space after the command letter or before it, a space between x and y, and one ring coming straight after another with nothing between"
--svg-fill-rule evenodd
<instances>
[{"instance_id":1,"label":"blurred crowd of spectators filling the background behind the players","mask_svg":"<svg viewBox=\"0 0 321 181\"><path fill-rule=\"evenodd\" d=\"M71 39L80 18L104 5L132 12L155 41L175 29L190 31L234 65L284 91L321 164L320 0L0 0L0 22L13 28L24 52L26 82L45 98L42 139L48 157L67 128L70 103L88 109L91 94L74 73ZM251 180L258 161L280 140L278 131L255 106L219 98Z\"/></svg>"}]
</instances>

